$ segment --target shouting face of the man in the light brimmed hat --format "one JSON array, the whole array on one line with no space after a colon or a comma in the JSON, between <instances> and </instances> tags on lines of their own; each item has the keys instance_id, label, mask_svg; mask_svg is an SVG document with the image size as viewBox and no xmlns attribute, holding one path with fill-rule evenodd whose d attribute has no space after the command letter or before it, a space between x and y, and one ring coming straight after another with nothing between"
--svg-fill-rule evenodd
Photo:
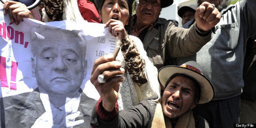
<instances>
[{"instance_id":1,"label":"shouting face of the man in the light brimmed hat","mask_svg":"<svg viewBox=\"0 0 256 128\"><path fill-rule=\"evenodd\" d=\"M163 92L163 113L169 118L177 118L196 106L195 83L183 76L174 77Z\"/></svg>"}]
</instances>

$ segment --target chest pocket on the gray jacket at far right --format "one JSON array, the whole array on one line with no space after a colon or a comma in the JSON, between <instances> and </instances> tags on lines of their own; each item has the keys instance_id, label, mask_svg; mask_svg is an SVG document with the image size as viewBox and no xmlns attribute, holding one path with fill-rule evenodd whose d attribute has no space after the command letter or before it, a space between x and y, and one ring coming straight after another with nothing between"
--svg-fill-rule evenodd
<instances>
[{"instance_id":1,"label":"chest pocket on the gray jacket at far right","mask_svg":"<svg viewBox=\"0 0 256 128\"><path fill-rule=\"evenodd\" d=\"M217 32L221 31L221 32ZM223 24L216 26L216 34L213 38L217 38L216 47L225 51L232 51L236 48L239 29L237 26L237 22L232 24Z\"/></svg>"}]
</instances>

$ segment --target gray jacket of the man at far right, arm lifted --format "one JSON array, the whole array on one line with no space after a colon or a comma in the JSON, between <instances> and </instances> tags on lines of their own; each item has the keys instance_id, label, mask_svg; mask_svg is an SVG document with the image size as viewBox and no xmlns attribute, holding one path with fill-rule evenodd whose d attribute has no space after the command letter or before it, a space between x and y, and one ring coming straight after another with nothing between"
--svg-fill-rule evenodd
<instances>
[{"instance_id":1,"label":"gray jacket of the man at far right, arm lifted","mask_svg":"<svg viewBox=\"0 0 256 128\"><path fill-rule=\"evenodd\" d=\"M177 65L194 60L215 89L213 100L241 95L247 40L256 35L256 0L241 0L221 10L216 34L195 55L177 59ZM254 74L252 74L254 75Z\"/></svg>"}]
</instances>

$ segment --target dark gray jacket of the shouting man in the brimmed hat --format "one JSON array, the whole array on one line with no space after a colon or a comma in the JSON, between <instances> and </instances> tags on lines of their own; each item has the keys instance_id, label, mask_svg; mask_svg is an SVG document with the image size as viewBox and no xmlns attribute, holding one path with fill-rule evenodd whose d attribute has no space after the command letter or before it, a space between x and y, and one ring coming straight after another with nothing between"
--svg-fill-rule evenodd
<instances>
[{"instance_id":1,"label":"dark gray jacket of the shouting man in the brimmed hat","mask_svg":"<svg viewBox=\"0 0 256 128\"><path fill-rule=\"evenodd\" d=\"M119 111L119 114L115 119L109 122L99 119L96 113L96 107L94 107L90 123L93 125L93 128L159 128L157 125L162 123L159 123L156 120L165 121L164 117L161 116L163 115L163 110L161 103L155 102L152 99L142 100L136 106ZM157 107L157 105L160 107ZM159 113L156 113L156 111ZM155 118L158 119L154 120ZM153 120L154 123L152 123ZM194 121L196 128L209 127L207 121L205 121L203 117L194 115Z\"/></svg>"}]
</instances>

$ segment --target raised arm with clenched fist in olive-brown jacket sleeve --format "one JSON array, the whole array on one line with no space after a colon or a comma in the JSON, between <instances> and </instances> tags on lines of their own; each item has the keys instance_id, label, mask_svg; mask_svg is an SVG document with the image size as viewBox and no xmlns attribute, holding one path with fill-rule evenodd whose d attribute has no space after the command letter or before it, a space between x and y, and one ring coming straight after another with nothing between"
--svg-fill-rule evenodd
<instances>
[{"instance_id":1,"label":"raised arm with clenched fist in olive-brown jacket sleeve","mask_svg":"<svg viewBox=\"0 0 256 128\"><path fill-rule=\"evenodd\" d=\"M196 9L196 22L189 29L170 24L167 29L168 55L170 57L194 55L211 40L211 29L218 24L220 18L221 13L213 4L203 2Z\"/></svg>"}]
</instances>

